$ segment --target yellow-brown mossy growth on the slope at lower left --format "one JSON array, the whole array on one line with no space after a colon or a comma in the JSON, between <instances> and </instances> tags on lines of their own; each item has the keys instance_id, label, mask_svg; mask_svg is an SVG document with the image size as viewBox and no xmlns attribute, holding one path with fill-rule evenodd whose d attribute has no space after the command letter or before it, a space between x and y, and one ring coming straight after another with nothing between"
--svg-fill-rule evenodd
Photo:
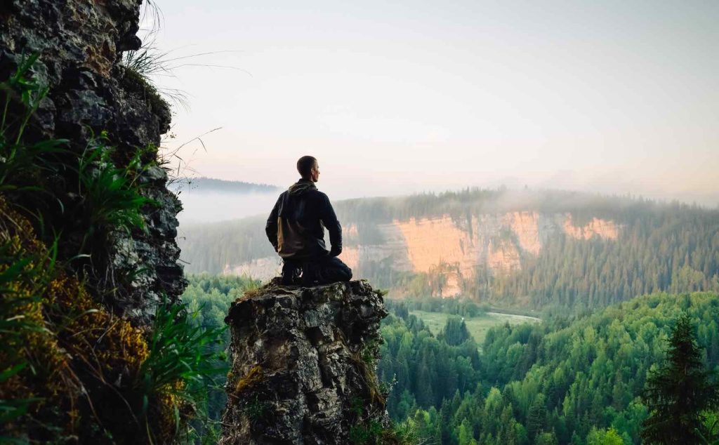
<instances>
[{"instance_id":1,"label":"yellow-brown mossy growth on the slope at lower left","mask_svg":"<svg viewBox=\"0 0 719 445\"><path fill-rule=\"evenodd\" d=\"M122 382L147 357L142 331L97 305L82 283L58 267L55 245L48 250L38 242L29 221L1 196L0 215L3 429L12 437L29 433L36 441L80 431L93 437L91 426L106 436L107 418L132 413L124 403L98 404L93 398L109 388L127 389Z\"/></svg>"}]
</instances>

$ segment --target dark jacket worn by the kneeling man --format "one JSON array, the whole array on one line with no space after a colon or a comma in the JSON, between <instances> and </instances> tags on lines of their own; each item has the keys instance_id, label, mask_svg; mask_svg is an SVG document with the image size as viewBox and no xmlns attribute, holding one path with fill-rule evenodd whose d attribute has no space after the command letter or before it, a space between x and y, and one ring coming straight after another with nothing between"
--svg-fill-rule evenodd
<instances>
[{"instance_id":1,"label":"dark jacket worn by the kneeling man","mask_svg":"<svg viewBox=\"0 0 719 445\"><path fill-rule=\"evenodd\" d=\"M324 243L324 227L332 245ZM280 194L267 218L265 233L280 257L305 260L342 253L342 226L329 198L311 180L298 180Z\"/></svg>"}]
</instances>

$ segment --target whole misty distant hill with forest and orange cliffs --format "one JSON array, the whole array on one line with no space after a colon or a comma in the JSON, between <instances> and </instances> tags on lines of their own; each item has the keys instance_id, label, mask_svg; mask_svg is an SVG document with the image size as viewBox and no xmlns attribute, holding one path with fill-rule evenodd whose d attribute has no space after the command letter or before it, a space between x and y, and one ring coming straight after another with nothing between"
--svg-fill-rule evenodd
<instances>
[{"instance_id":1,"label":"whole misty distant hill with forest and orange cliffs","mask_svg":"<svg viewBox=\"0 0 719 445\"><path fill-rule=\"evenodd\" d=\"M719 210L566 191L464 190L335 203L342 259L390 295L595 308L719 290ZM189 272L266 279L265 217L188 227Z\"/></svg>"}]
</instances>

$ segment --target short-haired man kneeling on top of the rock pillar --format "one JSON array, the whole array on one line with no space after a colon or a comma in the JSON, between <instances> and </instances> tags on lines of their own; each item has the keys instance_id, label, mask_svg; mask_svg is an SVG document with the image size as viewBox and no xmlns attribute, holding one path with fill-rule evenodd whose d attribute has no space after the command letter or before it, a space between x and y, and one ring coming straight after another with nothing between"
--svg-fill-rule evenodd
<instances>
[{"instance_id":1,"label":"short-haired man kneeling on top of the rock pillar","mask_svg":"<svg viewBox=\"0 0 719 445\"><path fill-rule=\"evenodd\" d=\"M300 272L303 285L349 281L352 270L337 258L342 253L342 226L329 198L314 184L319 180L319 164L314 157L303 156L297 171L302 178L280 194L265 225L267 239L284 262L282 283L298 284ZM329 251L324 227L329 231Z\"/></svg>"}]
</instances>

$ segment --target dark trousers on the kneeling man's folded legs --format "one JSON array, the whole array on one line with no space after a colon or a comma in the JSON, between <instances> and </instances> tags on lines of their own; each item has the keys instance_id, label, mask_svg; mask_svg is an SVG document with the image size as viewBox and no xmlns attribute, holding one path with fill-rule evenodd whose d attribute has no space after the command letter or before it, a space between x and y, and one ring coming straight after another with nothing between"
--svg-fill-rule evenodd
<instances>
[{"instance_id":1,"label":"dark trousers on the kneeling man's folded legs","mask_svg":"<svg viewBox=\"0 0 719 445\"><path fill-rule=\"evenodd\" d=\"M352 279L352 269L337 257L325 255L311 260L284 260L282 266L283 284L296 284L300 280L305 286L336 283Z\"/></svg>"}]
</instances>

